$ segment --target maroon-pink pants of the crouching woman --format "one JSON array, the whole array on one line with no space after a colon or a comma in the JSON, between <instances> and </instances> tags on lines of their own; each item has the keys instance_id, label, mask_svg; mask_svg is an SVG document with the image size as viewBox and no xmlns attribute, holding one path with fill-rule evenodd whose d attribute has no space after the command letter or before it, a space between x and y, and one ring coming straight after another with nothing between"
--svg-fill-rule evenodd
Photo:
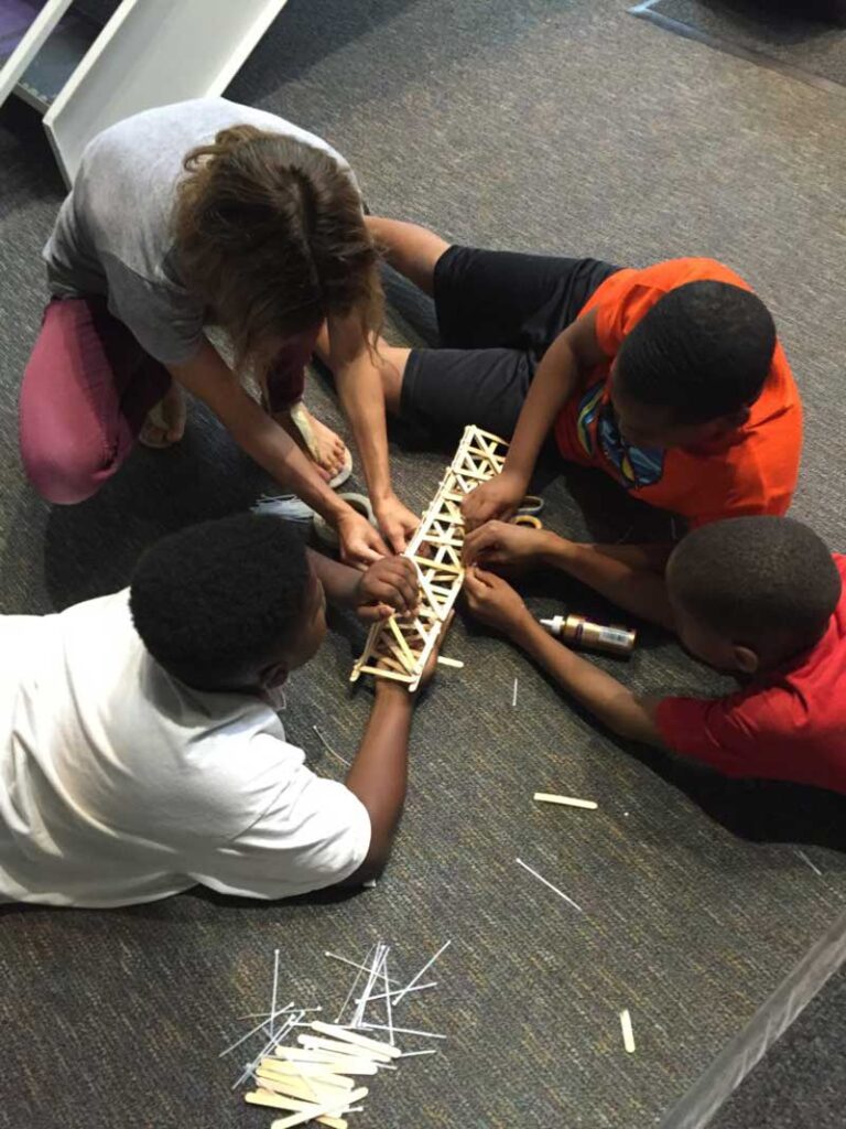
<instances>
[{"instance_id":1,"label":"maroon-pink pants of the crouching woman","mask_svg":"<svg viewBox=\"0 0 846 1129\"><path fill-rule=\"evenodd\" d=\"M292 341L267 377L271 408L302 397L316 332ZM47 501L85 501L129 455L170 375L102 297L53 299L24 373L20 456Z\"/></svg>"}]
</instances>

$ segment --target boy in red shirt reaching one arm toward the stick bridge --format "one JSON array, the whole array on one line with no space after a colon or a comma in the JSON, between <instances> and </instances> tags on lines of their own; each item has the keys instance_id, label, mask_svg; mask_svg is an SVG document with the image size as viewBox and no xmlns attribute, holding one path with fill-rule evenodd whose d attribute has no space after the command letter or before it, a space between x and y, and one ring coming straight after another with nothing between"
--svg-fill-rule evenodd
<instances>
[{"instance_id":1,"label":"boy in red shirt reaching one arm toward the stick bridge","mask_svg":"<svg viewBox=\"0 0 846 1129\"><path fill-rule=\"evenodd\" d=\"M548 636L492 572L469 569L465 592L475 615L622 737L726 776L846 793L844 579L846 557L792 518L739 517L688 534L667 567L676 628L693 655L742 685L712 700L633 693Z\"/></svg>"}]
</instances>

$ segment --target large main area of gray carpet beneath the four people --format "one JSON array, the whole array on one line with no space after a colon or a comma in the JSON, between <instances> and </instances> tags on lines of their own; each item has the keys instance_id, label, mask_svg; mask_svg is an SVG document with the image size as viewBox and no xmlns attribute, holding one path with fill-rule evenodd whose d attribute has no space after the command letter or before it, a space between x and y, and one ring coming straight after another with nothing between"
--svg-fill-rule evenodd
<instances>
[{"instance_id":1,"label":"large main area of gray carpet beneath the four people","mask_svg":"<svg viewBox=\"0 0 846 1129\"><path fill-rule=\"evenodd\" d=\"M627 15L623 0L290 0L232 98L321 133L373 210L497 247L645 264L710 254L769 303L807 405L794 513L846 545L840 475L843 103ZM125 583L139 550L266 485L202 414L185 445L140 450L96 499L50 510L21 479L15 410L43 303L38 250L62 196L19 108L0 119L0 610L49 611ZM396 294L396 287L391 287ZM418 301L394 340L425 336ZM340 422L331 392L312 405ZM399 492L420 507L443 456L395 437ZM548 522L623 534L629 516L587 476L548 491ZM585 517L589 497L600 517ZM596 610L540 578L538 612ZM607 614L607 612L606 612ZM368 692L347 694L352 644L335 634L288 693L314 763L323 725L349 754ZM688 1088L836 917L841 802L731 786L628 750L561 700L519 655L456 623L447 672L421 706L408 809L377 890L253 907L187 894L127 911L0 917L0 1023L10 1067L0 1126L264 1126L217 1052L259 1008L274 946L287 999L332 1004L346 978L321 956L382 937L409 973L447 938L409 1026L439 1056L377 1079L361 1126L646 1129ZM619 668L608 660L609 668ZM715 690L645 633L622 672L636 686ZM513 679L519 699L511 708ZM539 811L536 789L599 802ZM821 872L795 852L796 844ZM537 867L584 914L514 864ZM632 1010L637 1053L617 1014Z\"/></svg>"}]
</instances>

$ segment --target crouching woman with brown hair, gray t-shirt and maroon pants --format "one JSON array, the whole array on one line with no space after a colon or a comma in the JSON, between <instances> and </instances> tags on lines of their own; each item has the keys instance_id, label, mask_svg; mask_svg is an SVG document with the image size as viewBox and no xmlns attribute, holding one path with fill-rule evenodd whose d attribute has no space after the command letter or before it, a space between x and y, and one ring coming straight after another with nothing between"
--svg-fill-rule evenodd
<instances>
[{"instance_id":1,"label":"crouching woman with brown hair, gray t-shirt and maroon pants","mask_svg":"<svg viewBox=\"0 0 846 1129\"><path fill-rule=\"evenodd\" d=\"M94 495L135 438L178 441L187 390L337 530L345 560L402 551L416 518L390 485L379 254L326 142L222 98L136 114L86 149L44 257L52 298L24 375L20 447L49 501ZM385 540L333 492L350 453L301 402L321 329Z\"/></svg>"}]
</instances>

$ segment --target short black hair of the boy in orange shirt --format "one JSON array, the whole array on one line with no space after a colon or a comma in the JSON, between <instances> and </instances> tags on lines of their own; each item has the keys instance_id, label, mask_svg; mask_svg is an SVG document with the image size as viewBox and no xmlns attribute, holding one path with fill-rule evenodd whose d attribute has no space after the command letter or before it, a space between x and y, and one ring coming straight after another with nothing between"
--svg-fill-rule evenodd
<instances>
[{"instance_id":1,"label":"short black hair of the boy in orange shirt","mask_svg":"<svg viewBox=\"0 0 846 1129\"><path fill-rule=\"evenodd\" d=\"M680 423L706 423L755 403L775 345L773 317L750 290L686 282L624 339L615 378L638 403L670 409Z\"/></svg>"}]
</instances>

